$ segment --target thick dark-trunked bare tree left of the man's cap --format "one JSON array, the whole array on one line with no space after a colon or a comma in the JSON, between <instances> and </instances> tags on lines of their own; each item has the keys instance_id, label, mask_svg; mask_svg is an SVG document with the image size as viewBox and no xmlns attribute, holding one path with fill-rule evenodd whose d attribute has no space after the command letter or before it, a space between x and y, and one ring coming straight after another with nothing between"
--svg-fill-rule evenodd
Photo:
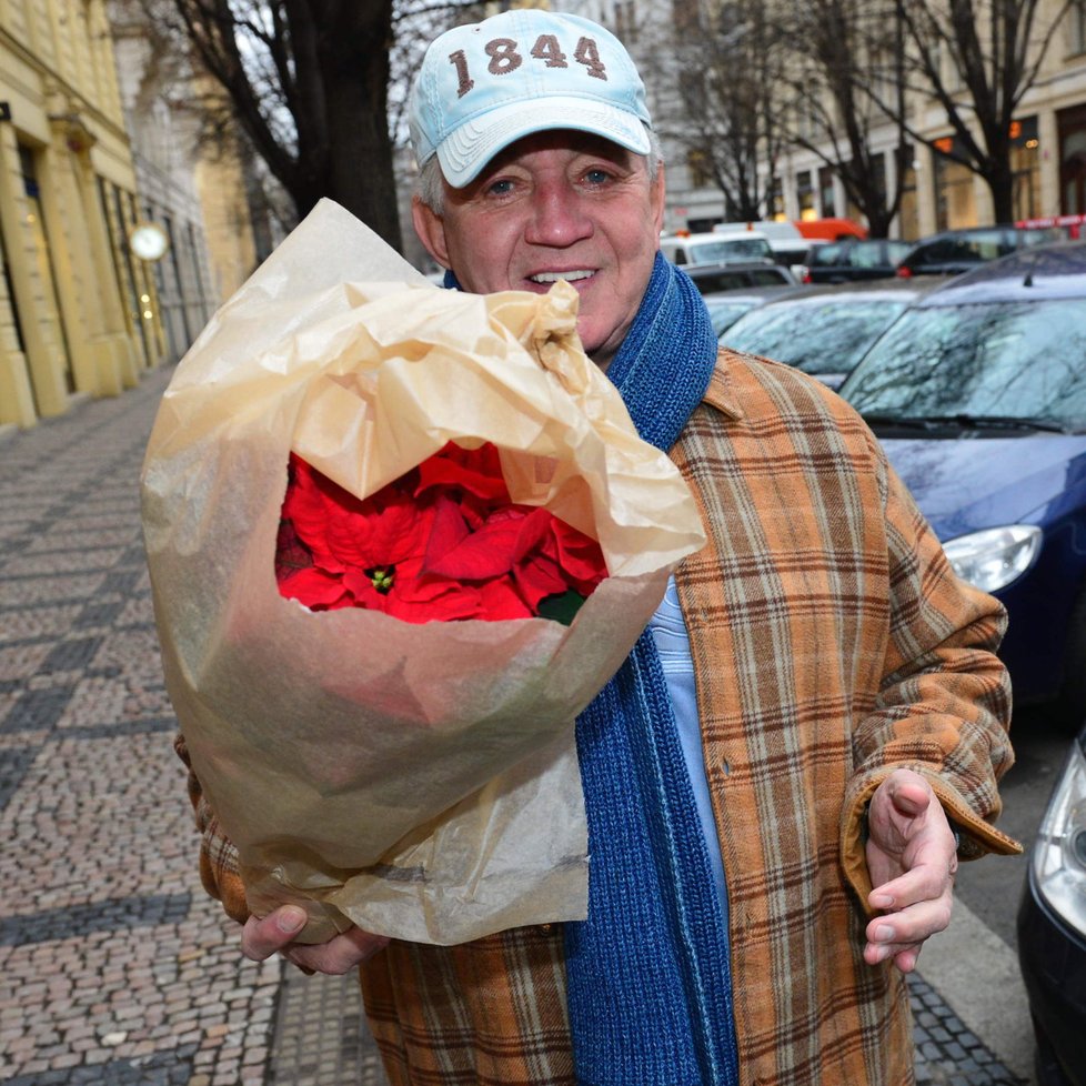
<instances>
[{"instance_id":1,"label":"thick dark-trunked bare tree left of the man's cap","mask_svg":"<svg viewBox=\"0 0 1086 1086\"><path fill-rule=\"evenodd\" d=\"M205 103L209 125L240 127L299 218L329 197L401 249L393 159L406 73L395 66L418 60L411 33L443 28L463 4L169 2L194 63L222 91ZM406 28L399 39L398 26Z\"/></svg>"}]
</instances>

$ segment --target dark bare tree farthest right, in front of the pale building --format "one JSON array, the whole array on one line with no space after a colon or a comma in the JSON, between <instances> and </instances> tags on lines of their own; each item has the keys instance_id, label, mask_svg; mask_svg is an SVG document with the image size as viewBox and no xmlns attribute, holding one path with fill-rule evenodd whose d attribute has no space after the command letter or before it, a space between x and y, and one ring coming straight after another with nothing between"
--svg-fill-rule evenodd
<instances>
[{"instance_id":1,"label":"dark bare tree farthest right, in front of the pale building","mask_svg":"<svg viewBox=\"0 0 1086 1086\"><path fill-rule=\"evenodd\" d=\"M983 178L997 222L1014 218L1012 123L1073 0L1039 18L1042 0L896 0L909 57L911 92L934 98L954 134L951 157ZM887 115L919 134L899 100Z\"/></svg>"}]
</instances>

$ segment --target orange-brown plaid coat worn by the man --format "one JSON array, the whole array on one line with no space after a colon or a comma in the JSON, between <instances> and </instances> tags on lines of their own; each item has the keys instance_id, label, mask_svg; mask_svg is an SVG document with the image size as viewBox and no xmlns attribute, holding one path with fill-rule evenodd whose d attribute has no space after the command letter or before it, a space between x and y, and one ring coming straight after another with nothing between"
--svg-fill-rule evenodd
<instances>
[{"instance_id":1,"label":"orange-brown plaid coat worn by the man","mask_svg":"<svg viewBox=\"0 0 1086 1086\"><path fill-rule=\"evenodd\" d=\"M672 456L710 535L675 579L727 881L741 1084L906 1086L904 978L863 962L866 804L907 766L964 858L1018 851L992 825L1013 760L994 655L1005 614L953 575L856 414L790 366L722 352ZM193 798L204 883L243 918L195 782ZM575 1082L560 927L394 942L361 973L393 1086Z\"/></svg>"}]
</instances>

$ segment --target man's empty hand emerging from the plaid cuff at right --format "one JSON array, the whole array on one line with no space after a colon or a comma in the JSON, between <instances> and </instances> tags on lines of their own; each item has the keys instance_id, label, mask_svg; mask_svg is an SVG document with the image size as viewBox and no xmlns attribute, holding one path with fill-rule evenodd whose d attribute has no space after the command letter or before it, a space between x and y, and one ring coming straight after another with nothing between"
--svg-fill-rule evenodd
<instances>
[{"instance_id":1,"label":"man's empty hand emerging from the plaid cuff at right","mask_svg":"<svg viewBox=\"0 0 1086 1086\"><path fill-rule=\"evenodd\" d=\"M895 770L875 790L867 831L867 901L883 915L867 925L864 961L892 958L912 973L924 941L951 923L954 833L932 786L912 770Z\"/></svg>"}]
</instances>

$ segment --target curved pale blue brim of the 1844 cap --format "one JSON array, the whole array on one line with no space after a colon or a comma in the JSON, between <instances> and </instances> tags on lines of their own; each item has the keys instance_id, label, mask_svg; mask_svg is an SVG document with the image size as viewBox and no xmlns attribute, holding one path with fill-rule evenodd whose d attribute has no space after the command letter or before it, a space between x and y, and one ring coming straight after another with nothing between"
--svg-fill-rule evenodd
<instances>
[{"instance_id":1,"label":"curved pale blue brim of the 1844 cap","mask_svg":"<svg viewBox=\"0 0 1086 1086\"><path fill-rule=\"evenodd\" d=\"M466 121L439 144L441 172L454 189L462 189L499 151L552 129L591 132L635 154L648 153L648 132L635 114L583 98L553 98L513 102Z\"/></svg>"}]
</instances>

